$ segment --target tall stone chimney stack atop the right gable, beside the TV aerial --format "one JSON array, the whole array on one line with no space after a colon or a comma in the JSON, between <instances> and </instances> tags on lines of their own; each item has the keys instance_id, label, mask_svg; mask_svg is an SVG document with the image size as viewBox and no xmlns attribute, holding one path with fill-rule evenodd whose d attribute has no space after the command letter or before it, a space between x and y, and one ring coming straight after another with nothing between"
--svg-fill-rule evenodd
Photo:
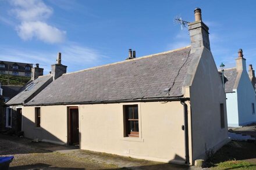
<instances>
[{"instance_id":1,"label":"tall stone chimney stack atop the right gable, beside the TV aerial","mask_svg":"<svg viewBox=\"0 0 256 170\"><path fill-rule=\"evenodd\" d=\"M204 46L208 50L210 49L209 42L209 28L202 22L201 9L196 8L194 10L195 21L189 23L189 34L191 41L191 52L196 48Z\"/></svg>"}]
</instances>

